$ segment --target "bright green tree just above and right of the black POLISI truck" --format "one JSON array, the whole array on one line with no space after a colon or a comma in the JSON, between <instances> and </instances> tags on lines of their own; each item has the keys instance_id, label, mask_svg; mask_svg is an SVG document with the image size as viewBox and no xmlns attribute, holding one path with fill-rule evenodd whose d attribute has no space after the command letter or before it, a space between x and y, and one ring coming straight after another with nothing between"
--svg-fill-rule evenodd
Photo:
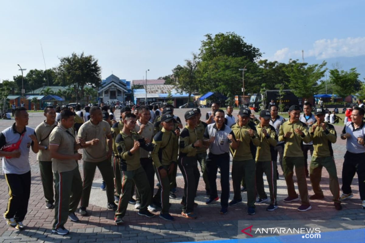
<instances>
[{"instance_id":1,"label":"bright green tree just above and right of the black POLISI truck","mask_svg":"<svg viewBox=\"0 0 365 243\"><path fill-rule=\"evenodd\" d=\"M312 97L317 89L317 82L324 77L327 70L324 68L326 64L323 61L322 64L308 65L308 63L290 60L288 67L285 68L285 72L289 76L289 88L297 97Z\"/></svg>"}]
</instances>

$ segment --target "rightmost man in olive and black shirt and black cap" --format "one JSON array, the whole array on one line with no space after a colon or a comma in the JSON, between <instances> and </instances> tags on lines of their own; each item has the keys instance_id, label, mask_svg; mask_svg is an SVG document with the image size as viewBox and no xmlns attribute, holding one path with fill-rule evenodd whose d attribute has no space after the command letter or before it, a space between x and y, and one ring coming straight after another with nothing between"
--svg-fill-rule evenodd
<instances>
[{"instance_id":1,"label":"rightmost man in olive and black shirt and black cap","mask_svg":"<svg viewBox=\"0 0 365 243\"><path fill-rule=\"evenodd\" d=\"M311 200L324 198L319 186L322 177L322 168L324 166L330 175L330 190L333 195L334 206L337 210L341 210L342 206L339 200L340 188L332 149L332 144L337 140L337 134L333 125L324 122L324 114L326 114L326 111L323 108L316 109L314 115L317 122L310 128L310 135L314 147L310 164L310 179L314 195L309 198Z\"/></svg>"}]
</instances>

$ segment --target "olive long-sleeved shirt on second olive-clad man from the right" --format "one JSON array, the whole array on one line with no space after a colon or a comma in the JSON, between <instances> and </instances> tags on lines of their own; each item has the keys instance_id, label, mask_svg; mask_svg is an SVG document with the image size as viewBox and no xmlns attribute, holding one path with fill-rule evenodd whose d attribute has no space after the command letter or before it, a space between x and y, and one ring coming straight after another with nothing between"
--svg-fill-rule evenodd
<instances>
[{"instance_id":1,"label":"olive long-sleeved shirt on second olive-clad man from the right","mask_svg":"<svg viewBox=\"0 0 365 243\"><path fill-rule=\"evenodd\" d=\"M303 136L295 132L295 129L299 128L303 132ZM285 138L284 135L287 132L292 132L289 138ZM302 142L310 142L311 137L309 136L307 125L301 121L291 123L290 119L280 126L279 130L279 141L285 141L284 156L287 157L304 157L303 150L301 150Z\"/></svg>"}]
</instances>

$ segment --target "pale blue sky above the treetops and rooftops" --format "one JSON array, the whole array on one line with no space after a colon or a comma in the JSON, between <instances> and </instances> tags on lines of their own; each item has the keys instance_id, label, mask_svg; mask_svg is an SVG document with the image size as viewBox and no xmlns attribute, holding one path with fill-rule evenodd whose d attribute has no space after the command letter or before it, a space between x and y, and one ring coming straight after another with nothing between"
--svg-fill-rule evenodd
<instances>
[{"instance_id":1,"label":"pale blue sky above the treetops and rooftops","mask_svg":"<svg viewBox=\"0 0 365 243\"><path fill-rule=\"evenodd\" d=\"M55 67L73 52L93 55L102 79L112 73L142 79L147 69L147 78L156 79L199 52L204 35L219 32L243 36L262 59L302 60L303 50L305 62L356 67L365 77L364 8L364 0L4 0L0 81L19 75L17 64L26 75Z\"/></svg>"}]
</instances>

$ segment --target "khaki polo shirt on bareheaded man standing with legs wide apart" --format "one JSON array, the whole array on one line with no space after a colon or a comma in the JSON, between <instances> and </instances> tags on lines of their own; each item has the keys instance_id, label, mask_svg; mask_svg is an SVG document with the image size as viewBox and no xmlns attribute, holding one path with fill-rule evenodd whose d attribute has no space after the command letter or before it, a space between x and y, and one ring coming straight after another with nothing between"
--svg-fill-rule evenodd
<instances>
[{"instance_id":1,"label":"khaki polo shirt on bareheaded man standing with legs wide apart","mask_svg":"<svg viewBox=\"0 0 365 243\"><path fill-rule=\"evenodd\" d=\"M106 137L111 135L110 125L107 121L101 121L99 124L92 124L91 120L81 125L78 130L78 139L84 138L85 141L99 139L97 145L84 148L82 159L88 162L101 162L106 159L107 145Z\"/></svg>"}]
</instances>

